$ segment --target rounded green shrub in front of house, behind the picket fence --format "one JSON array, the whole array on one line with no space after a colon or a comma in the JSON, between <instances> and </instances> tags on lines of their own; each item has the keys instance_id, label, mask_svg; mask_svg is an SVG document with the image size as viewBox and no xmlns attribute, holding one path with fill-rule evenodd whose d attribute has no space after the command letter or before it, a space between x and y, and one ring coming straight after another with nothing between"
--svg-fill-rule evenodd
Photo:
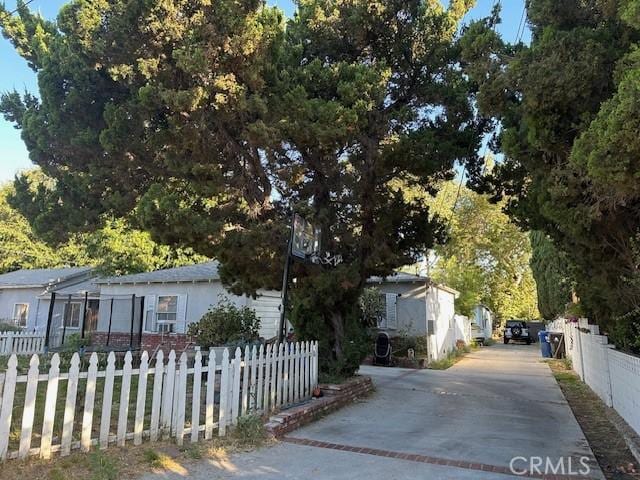
<instances>
[{"instance_id":1,"label":"rounded green shrub in front of house, behind the picket fence","mask_svg":"<svg viewBox=\"0 0 640 480\"><path fill-rule=\"evenodd\" d=\"M220 297L202 318L189 324L187 333L203 347L243 345L258 340L260 319L255 310L238 307L228 298Z\"/></svg>"}]
</instances>

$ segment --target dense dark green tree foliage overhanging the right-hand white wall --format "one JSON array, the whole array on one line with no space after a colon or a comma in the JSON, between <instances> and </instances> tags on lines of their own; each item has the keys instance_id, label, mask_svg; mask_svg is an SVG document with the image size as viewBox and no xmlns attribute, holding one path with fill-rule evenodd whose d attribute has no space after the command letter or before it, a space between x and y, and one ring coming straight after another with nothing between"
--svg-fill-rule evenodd
<instances>
[{"instance_id":1,"label":"dense dark green tree foliage overhanging the right-hand white wall","mask_svg":"<svg viewBox=\"0 0 640 480\"><path fill-rule=\"evenodd\" d=\"M637 2L532 0L527 9L530 46L505 44L496 18L474 22L461 41L505 155L473 183L552 239L581 307L618 343L632 334L623 315L640 302ZM557 301L543 300L547 314Z\"/></svg>"}]
</instances>

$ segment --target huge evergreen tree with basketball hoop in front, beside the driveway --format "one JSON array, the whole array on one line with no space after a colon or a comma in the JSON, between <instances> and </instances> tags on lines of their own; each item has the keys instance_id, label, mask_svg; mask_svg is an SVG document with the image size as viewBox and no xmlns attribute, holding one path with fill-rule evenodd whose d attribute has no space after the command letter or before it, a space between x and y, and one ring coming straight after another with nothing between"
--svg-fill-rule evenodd
<instances>
[{"instance_id":1,"label":"huge evergreen tree with basketball hoop in front, beside the driveway","mask_svg":"<svg viewBox=\"0 0 640 480\"><path fill-rule=\"evenodd\" d=\"M344 263L298 264L291 314L348 373L366 278L441 230L393 180L433 190L475 161L483 125L455 45L471 3L300 0L286 29L260 0L76 0L56 23L22 7L3 31L41 100L10 93L2 111L58 205L86 211L68 225L134 211L161 242L218 258L234 292L279 288L293 211L322 227Z\"/></svg>"}]
</instances>

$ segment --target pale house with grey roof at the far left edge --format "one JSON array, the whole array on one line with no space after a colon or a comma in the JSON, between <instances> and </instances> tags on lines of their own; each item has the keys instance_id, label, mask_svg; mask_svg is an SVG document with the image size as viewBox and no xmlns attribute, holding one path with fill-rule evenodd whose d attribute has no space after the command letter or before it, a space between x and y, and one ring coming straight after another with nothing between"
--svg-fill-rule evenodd
<instances>
[{"instance_id":1,"label":"pale house with grey roof at the far left edge","mask_svg":"<svg viewBox=\"0 0 640 480\"><path fill-rule=\"evenodd\" d=\"M91 267L17 270L0 275L0 321L44 331L50 292L91 278Z\"/></svg>"}]
</instances>

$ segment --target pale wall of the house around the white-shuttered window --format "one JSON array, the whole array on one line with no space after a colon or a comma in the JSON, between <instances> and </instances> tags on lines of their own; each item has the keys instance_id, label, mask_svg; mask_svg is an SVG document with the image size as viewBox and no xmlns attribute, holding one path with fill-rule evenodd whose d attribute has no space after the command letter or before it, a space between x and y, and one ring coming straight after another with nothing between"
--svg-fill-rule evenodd
<instances>
[{"instance_id":1,"label":"pale wall of the house around the white-shuttered window","mask_svg":"<svg viewBox=\"0 0 640 480\"><path fill-rule=\"evenodd\" d=\"M245 296L237 296L228 293L219 281L199 283L151 283L138 285L106 285L100 286L100 312L98 316L98 331L106 332L109 324L109 312L111 298L114 299L113 314L111 320L112 332L129 332L131 328L131 296L145 297L145 312L155 311L158 296L177 295L178 315L176 332L185 333L187 325L197 322L219 301L219 296L226 296L238 306L249 306L256 310L260 318L260 335L265 338L274 336L276 320L279 320L278 306L280 305L279 292L262 292L263 296L253 300ZM276 298L277 297L277 298ZM135 321L138 322L140 312L136 308ZM136 323L136 325L138 325Z\"/></svg>"}]
</instances>

